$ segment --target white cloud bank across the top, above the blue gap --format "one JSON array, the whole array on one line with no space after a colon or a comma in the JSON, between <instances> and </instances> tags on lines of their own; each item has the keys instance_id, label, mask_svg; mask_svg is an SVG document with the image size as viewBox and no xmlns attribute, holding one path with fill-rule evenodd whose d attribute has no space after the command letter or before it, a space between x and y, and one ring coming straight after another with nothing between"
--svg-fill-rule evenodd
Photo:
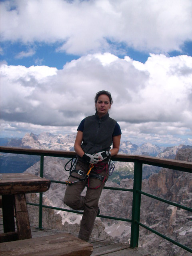
<instances>
[{"instance_id":1,"label":"white cloud bank across the top, above the blue gap","mask_svg":"<svg viewBox=\"0 0 192 256\"><path fill-rule=\"evenodd\" d=\"M87 54L180 50L192 40L191 0L26 0L0 3L2 40L60 42L60 51ZM109 40L113 44L109 43Z\"/></svg>"}]
</instances>

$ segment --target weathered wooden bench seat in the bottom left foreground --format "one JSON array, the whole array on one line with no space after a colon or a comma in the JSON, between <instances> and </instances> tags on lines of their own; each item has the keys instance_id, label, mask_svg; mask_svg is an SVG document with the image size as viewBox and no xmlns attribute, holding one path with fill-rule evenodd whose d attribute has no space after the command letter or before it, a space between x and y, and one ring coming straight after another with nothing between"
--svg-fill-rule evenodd
<instances>
[{"instance_id":1,"label":"weathered wooden bench seat in the bottom left foreground","mask_svg":"<svg viewBox=\"0 0 192 256\"><path fill-rule=\"evenodd\" d=\"M0 244L1 256L89 256L92 251L92 244L68 233Z\"/></svg>"}]
</instances>

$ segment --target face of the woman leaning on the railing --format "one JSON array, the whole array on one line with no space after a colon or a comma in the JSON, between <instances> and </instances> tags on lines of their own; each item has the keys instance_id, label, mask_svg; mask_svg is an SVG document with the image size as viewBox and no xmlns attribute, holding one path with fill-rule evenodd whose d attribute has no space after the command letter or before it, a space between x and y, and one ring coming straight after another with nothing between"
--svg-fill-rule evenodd
<instances>
[{"instance_id":1,"label":"face of the woman leaning on the railing","mask_svg":"<svg viewBox=\"0 0 192 256\"><path fill-rule=\"evenodd\" d=\"M111 108L109 97L105 94L101 94L98 97L95 107L100 118L107 114L108 110Z\"/></svg>"}]
</instances>

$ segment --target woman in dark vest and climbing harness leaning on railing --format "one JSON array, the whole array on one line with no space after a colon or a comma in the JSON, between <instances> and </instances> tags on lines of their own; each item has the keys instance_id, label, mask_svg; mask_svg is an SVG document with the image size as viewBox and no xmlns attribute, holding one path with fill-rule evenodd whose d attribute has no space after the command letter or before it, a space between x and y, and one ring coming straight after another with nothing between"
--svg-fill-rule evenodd
<instances>
[{"instance_id":1,"label":"woman in dark vest and climbing harness leaning on railing","mask_svg":"<svg viewBox=\"0 0 192 256\"><path fill-rule=\"evenodd\" d=\"M109 158L118 153L120 146L120 126L108 113L112 103L110 92L98 92L95 97L96 114L82 120L77 129L74 148L78 160L69 179L76 182L67 185L64 203L74 210L84 210L78 237L85 241L90 238L98 214L99 198L109 174ZM87 179L86 173L91 164L94 167ZM86 184L86 196L81 196Z\"/></svg>"}]
</instances>

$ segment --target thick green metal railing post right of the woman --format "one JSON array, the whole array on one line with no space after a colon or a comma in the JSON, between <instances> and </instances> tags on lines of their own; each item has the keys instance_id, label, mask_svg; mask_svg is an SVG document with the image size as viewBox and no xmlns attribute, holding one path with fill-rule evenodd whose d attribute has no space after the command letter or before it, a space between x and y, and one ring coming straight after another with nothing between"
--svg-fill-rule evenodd
<instances>
[{"instance_id":1,"label":"thick green metal railing post right of the woman","mask_svg":"<svg viewBox=\"0 0 192 256\"><path fill-rule=\"evenodd\" d=\"M137 192L142 186L142 162L135 160L134 164L134 183L133 183L133 201L132 201L132 221L131 221L131 241L130 247L138 247L139 242L139 224L141 194Z\"/></svg>"}]
</instances>

